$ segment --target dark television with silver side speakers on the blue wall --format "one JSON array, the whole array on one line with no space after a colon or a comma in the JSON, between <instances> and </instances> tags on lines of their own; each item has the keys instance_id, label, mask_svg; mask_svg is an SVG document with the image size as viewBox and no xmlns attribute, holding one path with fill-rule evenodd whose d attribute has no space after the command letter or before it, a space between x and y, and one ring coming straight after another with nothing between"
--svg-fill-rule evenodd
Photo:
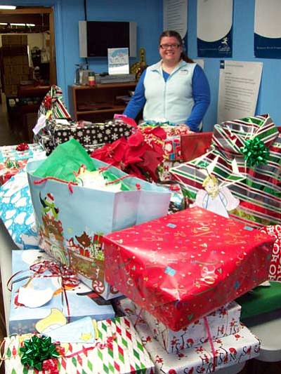
<instances>
[{"instance_id":1,"label":"dark television with silver side speakers on the blue wall","mask_svg":"<svg viewBox=\"0 0 281 374\"><path fill-rule=\"evenodd\" d=\"M107 57L107 48L129 48L135 57L136 23L79 21L79 44L80 57Z\"/></svg>"}]
</instances>

